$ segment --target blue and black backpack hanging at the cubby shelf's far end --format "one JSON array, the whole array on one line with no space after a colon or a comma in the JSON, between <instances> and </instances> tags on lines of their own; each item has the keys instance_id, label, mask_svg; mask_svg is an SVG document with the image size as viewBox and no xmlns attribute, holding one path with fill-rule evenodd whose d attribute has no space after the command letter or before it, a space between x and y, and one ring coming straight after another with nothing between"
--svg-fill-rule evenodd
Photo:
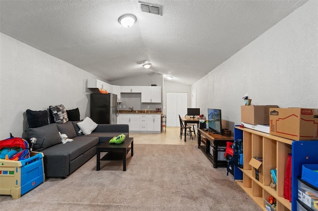
<instances>
[{"instance_id":1,"label":"blue and black backpack hanging at the cubby shelf's far end","mask_svg":"<svg viewBox=\"0 0 318 211\"><path fill-rule=\"evenodd\" d=\"M230 171L230 166L236 165L239 168L243 167L243 141L241 139L237 139L233 142L232 145L233 149L233 156L227 155L227 162L228 162L228 173Z\"/></svg>"}]
</instances>

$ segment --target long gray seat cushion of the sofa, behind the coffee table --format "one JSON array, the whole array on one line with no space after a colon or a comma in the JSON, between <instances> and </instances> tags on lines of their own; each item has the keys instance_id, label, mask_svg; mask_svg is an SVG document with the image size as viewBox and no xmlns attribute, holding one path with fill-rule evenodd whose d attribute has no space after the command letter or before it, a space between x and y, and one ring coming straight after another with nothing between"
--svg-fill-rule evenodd
<instances>
[{"instance_id":1,"label":"long gray seat cushion of the sofa, behind the coffee table","mask_svg":"<svg viewBox=\"0 0 318 211\"><path fill-rule=\"evenodd\" d=\"M65 157L66 154L69 154L69 160L71 161L79 157L87 150L96 146L98 142L98 137L78 136L74 138L73 142L54 145L50 148L43 150L42 152L44 154L44 157L54 156L57 160L59 156Z\"/></svg>"}]
</instances>

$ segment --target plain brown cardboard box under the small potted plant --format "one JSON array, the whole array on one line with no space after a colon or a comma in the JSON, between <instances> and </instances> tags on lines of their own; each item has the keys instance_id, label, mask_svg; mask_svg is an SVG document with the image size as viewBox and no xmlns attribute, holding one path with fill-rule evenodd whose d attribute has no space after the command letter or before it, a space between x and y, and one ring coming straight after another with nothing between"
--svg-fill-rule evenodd
<instances>
[{"instance_id":1,"label":"plain brown cardboard box under the small potted plant","mask_svg":"<svg viewBox=\"0 0 318 211\"><path fill-rule=\"evenodd\" d=\"M248 124L269 124L269 108L272 106L240 106L241 121Z\"/></svg>"}]
</instances>

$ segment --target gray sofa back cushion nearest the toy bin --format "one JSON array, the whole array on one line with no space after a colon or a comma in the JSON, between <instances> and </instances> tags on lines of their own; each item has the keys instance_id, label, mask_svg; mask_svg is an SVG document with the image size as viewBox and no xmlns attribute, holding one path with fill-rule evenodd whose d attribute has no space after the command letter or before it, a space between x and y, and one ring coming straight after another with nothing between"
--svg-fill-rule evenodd
<instances>
[{"instance_id":1,"label":"gray sofa back cushion nearest the toy bin","mask_svg":"<svg viewBox=\"0 0 318 211\"><path fill-rule=\"evenodd\" d=\"M33 151L42 151L46 148L62 143L56 123L37 128L27 128L26 135L27 140L30 140L32 137L37 139L36 143L33 145Z\"/></svg>"}]
</instances>

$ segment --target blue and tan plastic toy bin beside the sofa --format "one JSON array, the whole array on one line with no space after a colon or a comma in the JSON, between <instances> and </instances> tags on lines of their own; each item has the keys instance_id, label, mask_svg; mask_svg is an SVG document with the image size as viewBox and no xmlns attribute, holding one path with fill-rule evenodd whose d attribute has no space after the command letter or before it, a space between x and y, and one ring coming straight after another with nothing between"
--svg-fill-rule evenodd
<instances>
[{"instance_id":1,"label":"blue and tan plastic toy bin beside the sofa","mask_svg":"<svg viewBox=\"0 0 318 211\"><path fill-rule=\"evenodd\" d=\"M18 199L43 183L43 157L43 153L32 152L30 158L19 161L0 159L0 194Z\"/></svg>"}]
</instances>

